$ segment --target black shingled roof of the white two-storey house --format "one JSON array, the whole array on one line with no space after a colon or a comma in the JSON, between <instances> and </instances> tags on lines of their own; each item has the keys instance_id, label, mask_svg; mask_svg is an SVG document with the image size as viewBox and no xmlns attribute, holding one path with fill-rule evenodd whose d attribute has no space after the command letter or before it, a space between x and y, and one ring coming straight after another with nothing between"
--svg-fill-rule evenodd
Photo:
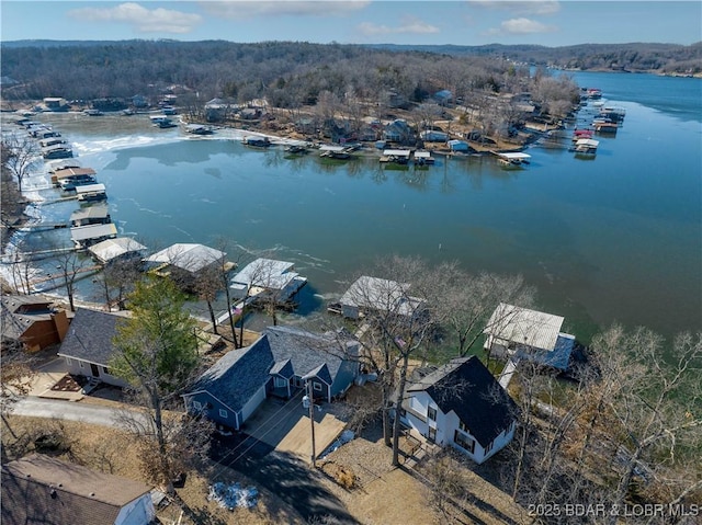
<instances>
[{"instance_id":1,"label":"black shingled roof of the white two-storey house","mask_svg":"<svg viewBox=\"0 0 702 525\"><path fill-rule=\"evenodd\" d=\"M517 418L519 408L476 356L452 359L407 389L426 391L444 414L454 412L484 448Z\"/></svg>"}]
</instances>

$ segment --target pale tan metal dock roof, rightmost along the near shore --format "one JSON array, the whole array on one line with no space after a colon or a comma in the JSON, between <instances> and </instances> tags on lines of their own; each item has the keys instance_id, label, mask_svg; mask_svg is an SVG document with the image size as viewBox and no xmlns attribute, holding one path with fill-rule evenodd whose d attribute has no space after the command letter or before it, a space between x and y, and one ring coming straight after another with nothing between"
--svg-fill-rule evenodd
<instances>
[{"instance_id":1,"label":"pale tan metal dock roof, rightmost along the near shore","mask_svg":"<svg viewBox=\"0 0 702 525\"><path fill-rule=\"evenodd\" d=\"M554 350L564 318L500 303L485 333L532 349Z\"/></svg>"}]
</instances>

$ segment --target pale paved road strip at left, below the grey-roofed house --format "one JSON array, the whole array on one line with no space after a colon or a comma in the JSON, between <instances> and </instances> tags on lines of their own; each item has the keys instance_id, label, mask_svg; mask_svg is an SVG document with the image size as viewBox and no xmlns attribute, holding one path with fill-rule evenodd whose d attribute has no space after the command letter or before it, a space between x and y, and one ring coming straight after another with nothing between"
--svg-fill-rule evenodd
<instances>
[{"instance_id":1,"label":"pale paved road strip at left, below the grey-roofed house","mask_svg":"<svg viewBox=\"0 0 702 525\"><path fill-rule=\"evenodd\" d=\"M56 399L42 399L35 397L21 398L13 404L11 413L31 418L53 418L80 421L102 426L118 426L115 420L117 411L111 407L76 403Z\"/></svg>"}]
</instances>

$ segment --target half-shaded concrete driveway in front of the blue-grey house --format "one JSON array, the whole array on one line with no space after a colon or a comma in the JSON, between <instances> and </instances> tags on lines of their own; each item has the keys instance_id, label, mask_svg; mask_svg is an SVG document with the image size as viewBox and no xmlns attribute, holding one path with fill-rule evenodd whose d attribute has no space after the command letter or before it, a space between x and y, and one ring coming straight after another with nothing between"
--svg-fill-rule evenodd
<instances>
[{"instance_id":1,"label":"half-shaded concrete driveway in front of the blue-grey house","mask_svg":"<svg viewBox=\"0 0 702 525\"><path fill-rule=\"evenodd\" d=\"M268 398L244 424L242 432L278 452L309 461L312 457L312 422L309 410L302 404L303 392L290 400ZM346 422L325 410L315 409L315 455L318 457L341 434Z\"/></svg>"}]
</instances>

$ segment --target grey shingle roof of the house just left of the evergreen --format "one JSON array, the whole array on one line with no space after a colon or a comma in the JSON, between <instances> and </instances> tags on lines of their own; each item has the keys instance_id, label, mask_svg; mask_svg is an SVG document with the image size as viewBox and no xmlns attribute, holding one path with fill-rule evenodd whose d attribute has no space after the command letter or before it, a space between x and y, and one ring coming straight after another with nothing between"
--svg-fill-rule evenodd
<instances>
[{"instance_id":1,"label":"grey shingle roof of the house just left of the evergreen","mask_svg":"<svg viewBox=\"0 0 702 525\"><path fill-rule=\"evenodd\" d=\"M58 355L107 366L115 351L112 339L123 316L78 308Z\"/></svg>"}]
</instances>

